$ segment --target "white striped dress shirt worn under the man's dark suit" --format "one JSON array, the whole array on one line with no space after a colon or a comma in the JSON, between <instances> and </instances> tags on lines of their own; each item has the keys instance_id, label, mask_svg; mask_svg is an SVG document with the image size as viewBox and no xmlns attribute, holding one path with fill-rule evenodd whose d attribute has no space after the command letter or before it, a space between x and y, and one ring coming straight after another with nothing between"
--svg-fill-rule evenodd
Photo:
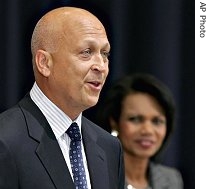
<instances>
[{"instance_id":1,"label":"white striped dress shirt worn under the man's dark suit","mask_svg":"<svg viewBox=\"0 0 210 189\"><path fill-rule=\"evenodd\" d=\"M36 82L34 83L30 91L30 96L31 96L31 99L34 101L34 103L42 111L49 125L51 126L53 133L61 148L61 151L63 153L69 172L73 179L71 163L70 163L70 158L69 158L71 139L65 132L69 128L69 126L72 124L72 122L76 122L78 124L80 132L81 132L82 113L75 120L71 120L61 109L59 109L53 102L51 102L44 95L44 93L40 90ZM81 137L82 137L82 133L81 133ZM91 189L90 176L89 176L87 159L86 159L83 143L82 143L82 154L83 154L83 161L84 161L88 188Z\"/></svg>"}]
</instances>

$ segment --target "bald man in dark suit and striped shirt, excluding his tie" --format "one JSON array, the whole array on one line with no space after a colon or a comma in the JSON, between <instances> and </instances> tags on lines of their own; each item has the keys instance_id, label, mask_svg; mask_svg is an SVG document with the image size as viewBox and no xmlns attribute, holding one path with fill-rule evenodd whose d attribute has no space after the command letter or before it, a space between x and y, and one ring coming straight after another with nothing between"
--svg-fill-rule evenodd
<instances>
[{"instance_id":1,"label":"bald man in dark suit and striped shirt, excluding his tie","mask_svg":"<svg viewBox=\"0 0 210 189\"><path fill-rule=\"evenodd\" d=\"M94 106L108 75L110 44L90 12L62 7L35 26L35 83L0 115L1 189L76 189L70 163L72 122L81 131L88 189L123 189L121 145L82 112Z\"/></svg>"}]
</instances>

